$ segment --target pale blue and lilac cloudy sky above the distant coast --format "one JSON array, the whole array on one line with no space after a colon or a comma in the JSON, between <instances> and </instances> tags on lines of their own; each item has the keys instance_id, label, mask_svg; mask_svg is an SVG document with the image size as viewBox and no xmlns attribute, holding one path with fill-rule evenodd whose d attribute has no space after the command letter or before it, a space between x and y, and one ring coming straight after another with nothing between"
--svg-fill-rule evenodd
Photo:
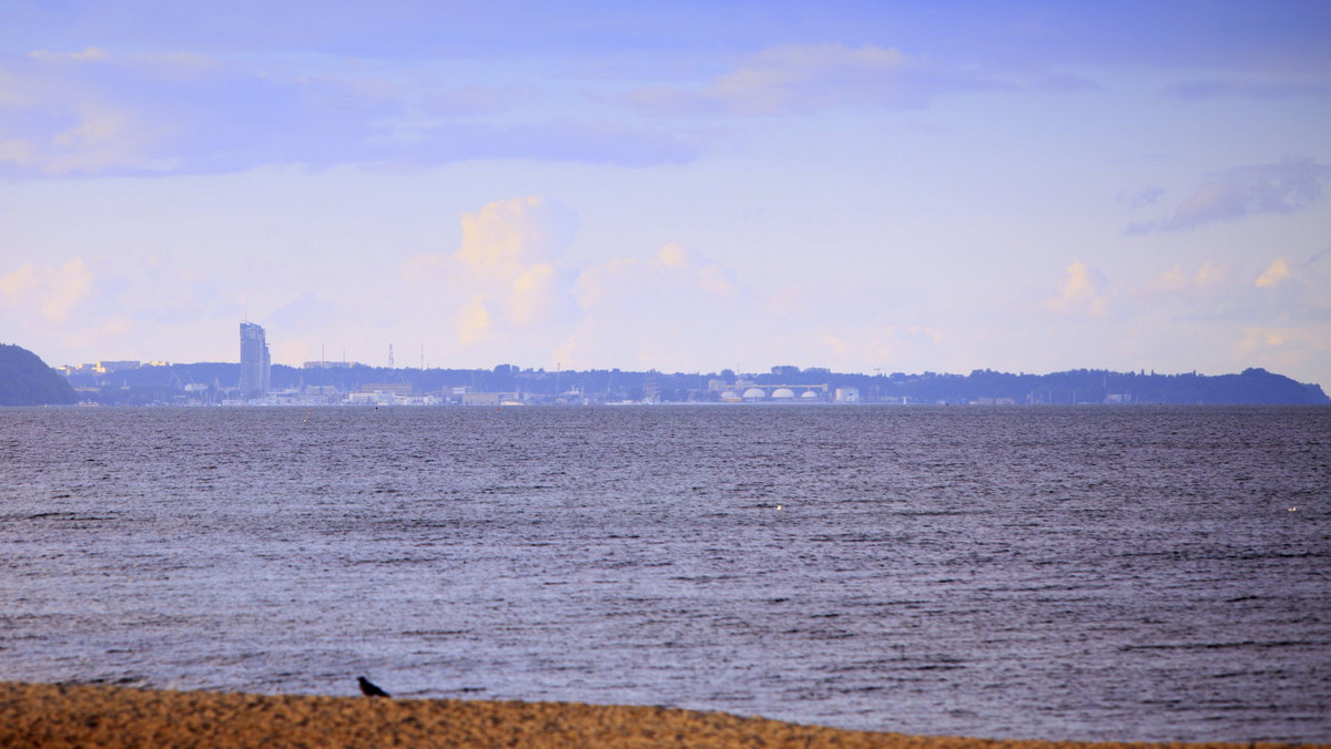
<instances>
[{"instance_id":1,"label":"pale blue and lilac cloudy sky above the distant coast","mask_svg":"<svg viewBox=\"0 0 1331 749\"><path fill-rule=\"evenodd\" d=\"M51 365L1331 386L1331 3L0 0Z\"/></svg>"}]
</instances>

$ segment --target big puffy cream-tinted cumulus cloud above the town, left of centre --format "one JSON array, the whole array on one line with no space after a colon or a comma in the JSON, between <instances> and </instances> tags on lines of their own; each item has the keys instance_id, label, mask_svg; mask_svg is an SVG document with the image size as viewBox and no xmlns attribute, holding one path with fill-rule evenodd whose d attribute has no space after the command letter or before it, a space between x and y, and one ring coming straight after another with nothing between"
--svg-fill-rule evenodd
<instances>
[{"instance_id":1,"label":"big puffy cream-tinted cumulus cloud above the town, left of centre","mask_svg":"<svg viewBox=\"0 0 1331 749\"><path fill-rule=\"evenodd\" d=\"M528 351L570 367L691 361L739 317L743 290L723 263L664 243L578 266L566 258L575 227L571 212L536 196L466 213L455 251L403 258L411 306L439 310L454 359Z\"/></svg>"}]
</instances>

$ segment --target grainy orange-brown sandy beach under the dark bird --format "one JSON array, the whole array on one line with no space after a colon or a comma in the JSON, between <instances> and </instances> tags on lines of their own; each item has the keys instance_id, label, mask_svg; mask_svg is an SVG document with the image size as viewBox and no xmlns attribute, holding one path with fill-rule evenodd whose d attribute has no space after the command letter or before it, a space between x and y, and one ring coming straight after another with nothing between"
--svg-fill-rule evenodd
<instances>
[{"instance_id":1,"label":"grainy orange-brown sandy beach under the dark bird","mask_svg":"<svg viewBox=\"0 0 1331 749\"><path fill-rule=\"evenodd\" d=\"M0 682L0 746L1167 746L916 737L672 708ZM1177 744L1173 746L1236 746ZM1291 746L1291 745L1247 745Z\"/></svg>"}]
</instances>

